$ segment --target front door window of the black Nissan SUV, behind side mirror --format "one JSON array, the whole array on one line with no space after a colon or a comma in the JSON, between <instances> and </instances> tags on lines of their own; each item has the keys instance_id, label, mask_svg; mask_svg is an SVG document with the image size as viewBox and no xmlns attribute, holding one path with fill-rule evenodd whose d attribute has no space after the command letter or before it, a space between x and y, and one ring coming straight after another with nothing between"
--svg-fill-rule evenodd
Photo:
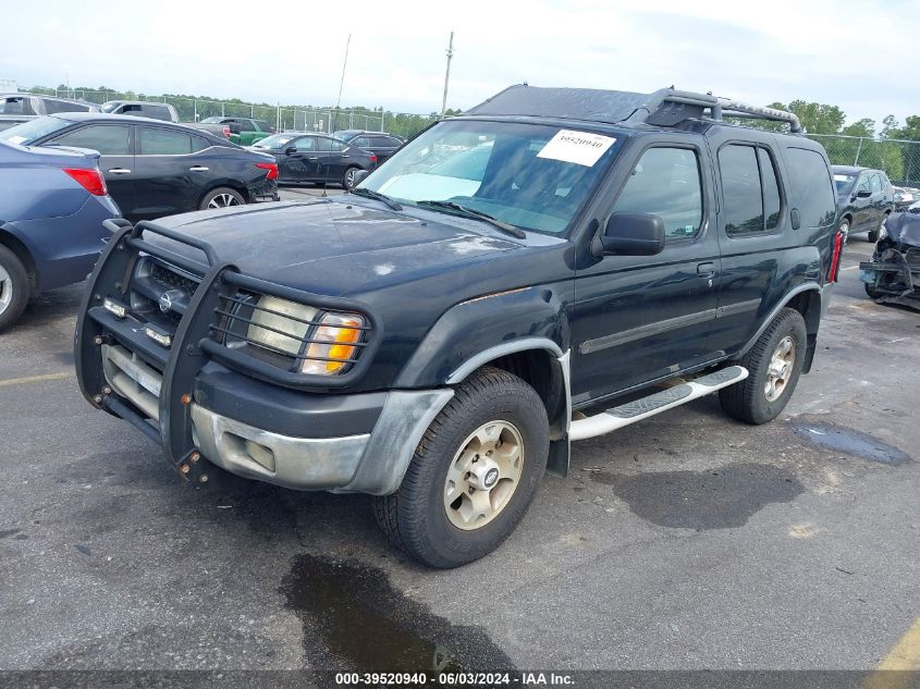
<instances>
[{"instance_id":1,"label":"front door window of the black Nissan SUV, behind side mirror","mask_svg":"<svg viewBox=\"0 0 920 689\"><path fill-rule=\"evenodd\" d=\"M686 148L650 148L626 181L613 212L653 213L667 239L696 236L702 225L697 155Z\"/></svg>"}]
</instances>

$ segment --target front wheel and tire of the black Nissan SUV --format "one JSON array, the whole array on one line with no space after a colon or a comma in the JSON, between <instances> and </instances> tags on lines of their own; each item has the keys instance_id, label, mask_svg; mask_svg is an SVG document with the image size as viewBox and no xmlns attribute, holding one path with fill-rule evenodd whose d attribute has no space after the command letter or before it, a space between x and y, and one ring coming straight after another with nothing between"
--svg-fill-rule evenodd
<instances>
[{"instance_id":1,"label":"front wheel and tire of the black Nissan SUV","mask_svg":"<svg viewBox=\"0 0 920 689\"><path fill-rule=\"evenodd\" d=\"M501 444L480 442L499 429ZM483 447L491 450L480 457ZM502 454L505 458L498 459ZM400 490L375 499L377 522L400 550L430 567L470 563L514 531L537 493L548 454L547 410L537 392L507 371L480 369L428 427ZM480 479L464 473L477 463ZM496 466L501 470L491 476ZM510 483L506 477L514 471L517 481ZM457 482L449 482L450 476ZM491 488L475 489L477 480ZM452 494L457 497L449 504ZM477 512L474 494L486 501L479 505L498 505L491 516Z\"/></svg>"}]
</instances>

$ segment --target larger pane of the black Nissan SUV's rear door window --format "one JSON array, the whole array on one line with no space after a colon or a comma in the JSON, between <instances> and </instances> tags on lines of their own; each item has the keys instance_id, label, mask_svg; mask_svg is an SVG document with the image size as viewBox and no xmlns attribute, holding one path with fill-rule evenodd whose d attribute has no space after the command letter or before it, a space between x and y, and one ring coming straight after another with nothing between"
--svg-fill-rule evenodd
<instances>
[{"instance_id":1,"label":"larger pane of the black Nissan SUV's rear door window","mask_svg":"<svg viewBox=\"0 0 920 689\"><path fill-rule=\"evenodd\" d=\"M719 151L725 232L740 234L763 230L763 199L757 149L725 146Z\"/></svg>"}]
</instances>

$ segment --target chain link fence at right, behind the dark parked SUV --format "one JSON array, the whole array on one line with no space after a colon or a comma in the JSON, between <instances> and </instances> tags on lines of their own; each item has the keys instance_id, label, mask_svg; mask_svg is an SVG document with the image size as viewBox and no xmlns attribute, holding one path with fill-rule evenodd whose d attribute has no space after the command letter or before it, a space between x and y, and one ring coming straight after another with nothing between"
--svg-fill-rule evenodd
<instances>
[{"instance_id":1,"label":"chain link fence at right, behind the dark parked SUV","mask_svg":"<svg viewBox=\"0 0 920 689\"><path fill-rule=\"evenodd\" d=\"M835 165L883 170L896 186L920 185L920 142L876 139L835 134L809 134Z\"/></svg>"}]
</instances>

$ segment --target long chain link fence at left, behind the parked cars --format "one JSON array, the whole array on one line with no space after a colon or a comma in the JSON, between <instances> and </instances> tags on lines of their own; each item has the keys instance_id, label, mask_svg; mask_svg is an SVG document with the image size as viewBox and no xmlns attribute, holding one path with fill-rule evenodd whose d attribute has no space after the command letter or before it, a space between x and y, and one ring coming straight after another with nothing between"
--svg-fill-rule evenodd
<instances>
[{"instance_id":1,"label":"long chain link fence at left, behind the parked cars","mask_svg":"<svg viewBox=\"0 0 920 689\"><path fill-rule=\"evenodd\" d=\"M252 118L265 120L279 132L324 132L341 130L368 130L388 132L408 139L438 120L436 113L416 114L390 112L368 108L284 108L266 103L250 103L241 100L210 100L180 96L149 96L145 94L112 90L33 88L34 94L75 98L102 104L107 100L150 100L169 103L179 113L180 122L199 122L205 118Z\"/></svg>"}]
</instances>

